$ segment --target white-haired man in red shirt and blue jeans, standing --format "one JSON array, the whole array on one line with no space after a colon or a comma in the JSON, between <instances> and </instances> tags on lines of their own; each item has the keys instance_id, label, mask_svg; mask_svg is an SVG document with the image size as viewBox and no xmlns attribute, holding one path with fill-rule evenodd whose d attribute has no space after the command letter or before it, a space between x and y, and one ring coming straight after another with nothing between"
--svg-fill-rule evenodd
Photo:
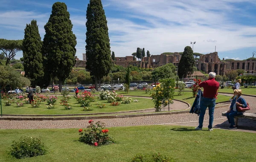
<instances>
[{"instance_id":1,"label":"white-haired man in red shirt and blue jeans, standing","mask_svg":"<svg viewBox=\"0 0 256 162\"><path fill-rule=\"evenodd\" d=\"M208 131L212 131L213 123L213 114L215 108L215 101L218 95L219 82L215 81L216 74L211 72L209 73L209 79L207 81L201 82L199 85L195 86L195 89L204 87L203 98L201 100L201 111L199 116L199 126L196 127L196 130L202 130L205 111L208 107L209 109L209 126Z\"/></svg>"}]
</instances>

